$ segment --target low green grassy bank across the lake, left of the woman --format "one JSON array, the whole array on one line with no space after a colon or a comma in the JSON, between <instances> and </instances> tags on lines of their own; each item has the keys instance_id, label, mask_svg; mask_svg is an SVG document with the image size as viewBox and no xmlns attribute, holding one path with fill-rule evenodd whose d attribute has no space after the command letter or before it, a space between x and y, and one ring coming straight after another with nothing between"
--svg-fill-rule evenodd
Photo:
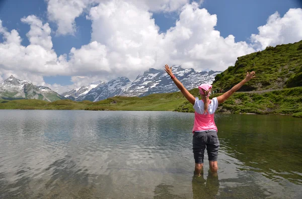
<instances>
[{"instance_id":1,"label":"low green grassy bank across the lake, left of the woman","mask_svg":"<svg viewBox=\"0 0 302 199\"><path fill-rule=\"evenodd\" d=\"M117 103L112 103L112 102ZM113 97L91 102L75 102L58 100L46 102L42 100L0 100L0 109L43 109L43 110L163 110L172 111L186 99L181 93L153 94L145 97Z\"/></svg>"}]
</instances>

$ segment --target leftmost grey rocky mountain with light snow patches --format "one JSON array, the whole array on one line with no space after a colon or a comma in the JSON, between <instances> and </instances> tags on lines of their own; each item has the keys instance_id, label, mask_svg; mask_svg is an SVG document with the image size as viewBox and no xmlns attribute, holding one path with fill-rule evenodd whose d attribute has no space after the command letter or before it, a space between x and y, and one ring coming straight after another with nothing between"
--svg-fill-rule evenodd
<instances>
[{"instance_id":1,"label":"leftmost grey rocky mountain with light snow patches","mask_svg":"<svg viewBox=\"0 0 302 199\"><path fill-rule=\"evenodd\" d=\"M13 75L0 84L0 97L8 99L40 99L53 102L65 99L45 86L35 86L29 81L16 79Z\"/></svg>"}]
</instances>

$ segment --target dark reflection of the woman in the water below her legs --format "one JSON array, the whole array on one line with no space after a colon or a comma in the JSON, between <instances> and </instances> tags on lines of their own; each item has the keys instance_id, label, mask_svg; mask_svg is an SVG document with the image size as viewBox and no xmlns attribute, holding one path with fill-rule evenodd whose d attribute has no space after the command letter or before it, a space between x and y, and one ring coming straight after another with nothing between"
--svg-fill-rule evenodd
<instances>
[{"instance_id":1,"label":"dark reflection of the woman in the water below her legs","mask_svg":"<svg viewBox=\"0 0 302 199\"><path fill-rule=\"evenodd\" d=\"M192 179L193 198L216 198L219 190L219 180L217 173L208 171L206 180L201 176L194 175Z\"/></svg>"}]
</instances>

